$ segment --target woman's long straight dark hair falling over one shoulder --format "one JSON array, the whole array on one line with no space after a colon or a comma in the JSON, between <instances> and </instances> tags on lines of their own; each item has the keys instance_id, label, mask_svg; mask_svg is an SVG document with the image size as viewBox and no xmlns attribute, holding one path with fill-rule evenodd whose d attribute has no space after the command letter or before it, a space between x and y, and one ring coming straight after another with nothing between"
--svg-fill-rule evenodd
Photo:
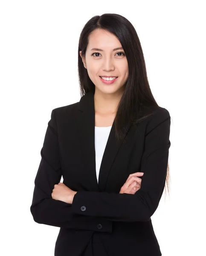
<instances>
[{"instance_id":1,"label":"woman's long straight dark hair falling over one shoulder","mask_svg":"<svg viewBox=\"0 0 206 256\"><path fill-rule=\"evenodd\" d=\"M122 44L128 61L129 75L114 119L116 139L124 141L125 126L137 124L154 114L151 109L154 110L158 104L149 86L145 58L136 30L125 17L110 13L93 16L81 31L78 44L78 76L81 96L90 91L95 93L95 85L91 81L79 54L81 51L82 57L85 58L89 35L95 29L104 29L115 35ZM142 111L143 109L144 111ZM169 165L167 170L166 182L168 187Z\"/></svg>"}]
</instances>

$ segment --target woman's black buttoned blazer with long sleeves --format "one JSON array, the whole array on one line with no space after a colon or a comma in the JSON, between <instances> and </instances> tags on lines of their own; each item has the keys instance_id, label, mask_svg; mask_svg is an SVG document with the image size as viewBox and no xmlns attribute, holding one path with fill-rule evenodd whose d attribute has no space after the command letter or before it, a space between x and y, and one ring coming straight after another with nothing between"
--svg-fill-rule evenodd
<instances>
[{"instance_id":1,"label":"woman's black buttoned blazer with long sleeves","mask_svg":"<svg viewBox=\"0 0 206 256\"><path fill-rule=\"evenodd\" d=\"M164 190L170 123L168 110L155 107L154 115L136 127L128 125L126 143L120 143L113 122L98 184L93 93L52 110L30 210L35 222L60 227L55 256L84 255L93 233L99 233L110 256L162 255L151 216ZM119 194L135 172L144 172L141 189L134 195ZM61 177L66 186L78 191L73 204L52 199L52 189Z\"/></svg>"}]
</instances>

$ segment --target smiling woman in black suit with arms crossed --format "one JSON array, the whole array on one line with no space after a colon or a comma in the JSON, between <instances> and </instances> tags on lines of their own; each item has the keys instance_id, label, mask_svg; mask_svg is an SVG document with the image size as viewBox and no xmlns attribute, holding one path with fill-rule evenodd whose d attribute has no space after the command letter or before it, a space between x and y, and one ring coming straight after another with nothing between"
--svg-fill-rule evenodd
<instances>
[{"instance_id":1,"label":"smiling woman in black suit with arms crossed","mask_svg":"<svg viewBox=\"0 0 206 256\"><path fill-rule=\"evenodd\" d=\"M78 73L80 101L53 109L48 122L34 221L60 227L55 256L160 256L151 216L168 178L170 114L151 93L125 17L86 23Z\"/></svg>"}]
</instances>

